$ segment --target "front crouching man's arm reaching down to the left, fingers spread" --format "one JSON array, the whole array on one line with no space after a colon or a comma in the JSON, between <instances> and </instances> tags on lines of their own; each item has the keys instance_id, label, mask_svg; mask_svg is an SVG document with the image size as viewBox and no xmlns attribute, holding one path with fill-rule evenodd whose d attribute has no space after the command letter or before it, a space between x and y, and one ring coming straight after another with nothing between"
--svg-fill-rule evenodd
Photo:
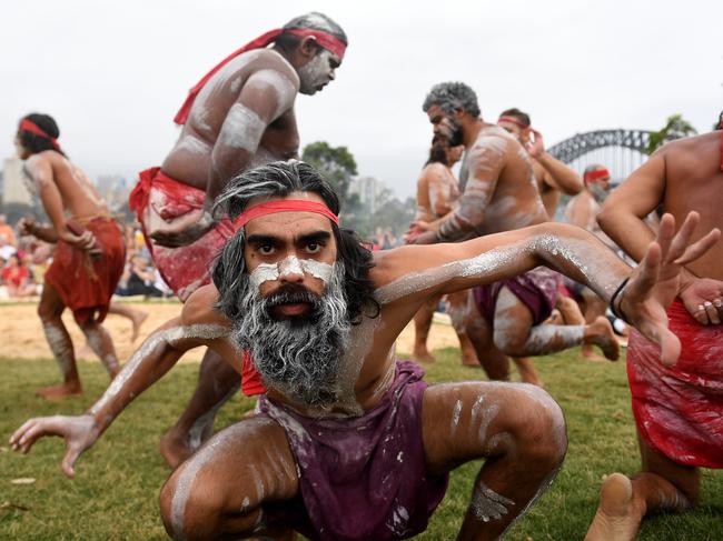
<instances>
[{"instance_id":1,"label":"front crouching man's arm reaching down to the left, fingers spread","mask_svg":"<svg viewBox=\"0 0 723 541\"><path fill-rule=\"evenodd\" d=\"M62 437L66 454L60 468L73 478L78 457L93 445L130 402L166 374L186 351L212 345L214 338L226 332L221 325L182 325L179 318L168 321L148 337L86 413L30 419L10 438L12 449L27 453L43 435Z\"/></svg>"}]
</instances>

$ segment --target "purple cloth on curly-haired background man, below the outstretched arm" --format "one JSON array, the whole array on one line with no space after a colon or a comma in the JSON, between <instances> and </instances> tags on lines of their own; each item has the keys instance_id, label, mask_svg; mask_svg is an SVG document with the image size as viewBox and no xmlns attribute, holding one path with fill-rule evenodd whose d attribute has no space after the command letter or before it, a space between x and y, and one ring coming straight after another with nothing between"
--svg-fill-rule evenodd
<instances>
[{"instance_id":1,"label":"purple cloth on curly-haired background man, below the outstretched arm","mask_svg":"<svg viewBox=\"0 0 723 541\"><path fill-rule=\"evenodd\" d=\"M549 318L555 308L559 281L561 275L557 272L546 267L537 267L515 278L477 285L473 289L475 304L482 317L494 325L497 297L502 288L507 287L532 312L533 325L538 325Z\"/></svg>"}]
</instances>

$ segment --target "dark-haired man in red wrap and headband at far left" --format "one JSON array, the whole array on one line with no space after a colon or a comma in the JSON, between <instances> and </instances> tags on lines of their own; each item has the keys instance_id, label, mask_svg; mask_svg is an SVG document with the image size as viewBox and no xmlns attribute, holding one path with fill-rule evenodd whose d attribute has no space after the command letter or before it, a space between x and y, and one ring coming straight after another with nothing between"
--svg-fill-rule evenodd
<instances>
[{"instance_id":1,"label":"dark-haired man in red wrap and headband at far left","mask_svg":"<svg viewBox=\"0 0 723 541\"><path fill-rule=\"evenodd\" d=\"M50 399L82 392L73 345L60 318L66 307L72 310L110 377L118 373L112 340L100 323L126 262L120 229L86 174L66 158L59 134L51 117L32 113L20 121L16 137L18 156L26 160L28 189L39 196L51 222L40 226L22 220L20 234L57 243L38 307L50 351L63 378L62 384L38 391Z\"/></svg>"}]
</instances>

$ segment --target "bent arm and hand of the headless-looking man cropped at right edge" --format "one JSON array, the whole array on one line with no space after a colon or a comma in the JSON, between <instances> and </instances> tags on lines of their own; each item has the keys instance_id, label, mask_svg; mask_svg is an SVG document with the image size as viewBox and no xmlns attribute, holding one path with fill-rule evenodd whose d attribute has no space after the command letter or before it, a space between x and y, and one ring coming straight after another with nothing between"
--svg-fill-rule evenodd
<instances>
[{"instance_id":1,"label":"bent arm and hand of the headless-looking man cropped at right edge","mask_svg":"<svg viewBox=\"0 0 723 541\"><path fill-rule=\"evenodd\" d=\"M657 152L610 194L597 214L597 223L625 253L641 261L655 237L646 224L647 216L663 201L664 194L665 154ZM684 268L677 293L685 309L701 324L721 322L715 308L701 310L701 307L723 297L723 282L700 278Z\"/></svg>"}]
</instances>

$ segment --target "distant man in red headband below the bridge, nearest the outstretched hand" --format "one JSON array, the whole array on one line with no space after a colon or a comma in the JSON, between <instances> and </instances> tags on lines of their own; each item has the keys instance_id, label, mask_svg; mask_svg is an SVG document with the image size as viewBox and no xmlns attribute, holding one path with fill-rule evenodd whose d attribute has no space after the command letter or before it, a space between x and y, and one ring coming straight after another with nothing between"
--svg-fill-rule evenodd
<instances>
[{"instance_id":1,"label":"distant man in red headband below the bridge, nearest the outstretched hand","mask_svg":"<svg viewBox=\"0 0 723 541\"><path fill-rule=\"evenodd\" d=\"M611 190L610 170L600 163L587 166L583 173L583 181L585 189L565 206L565 221L590 231L612 250L617 250L615 242L597 224L597 213ZM565 285L571 291L572 297L581 302L583 315L587 323L598 321L605 315L607 308L605 301L597 297L594 291L570 280L565 280ZM602 360L591 344L583 344L582 354L588 360Z\"/></svg>"}]
</instances>

